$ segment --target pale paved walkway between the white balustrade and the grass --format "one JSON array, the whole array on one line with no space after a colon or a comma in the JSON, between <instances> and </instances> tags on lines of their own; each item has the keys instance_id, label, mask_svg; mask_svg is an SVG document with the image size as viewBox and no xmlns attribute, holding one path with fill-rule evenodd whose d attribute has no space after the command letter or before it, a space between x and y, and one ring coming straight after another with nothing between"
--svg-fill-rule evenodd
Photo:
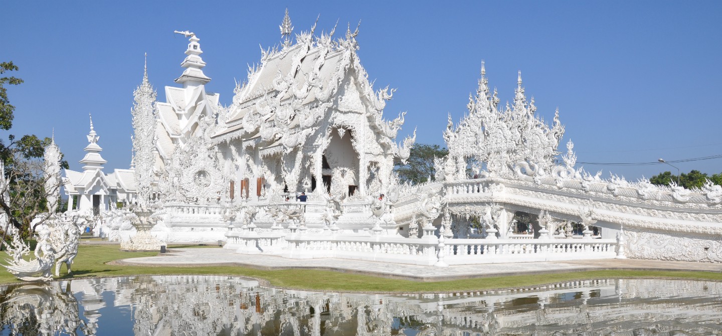
<instances>
[{"instance_id":1,"label":"pale paved walkway between the white balustrade and the grass","mask_svg":"<svg viewBox=\"0 0 722 336\"><path fill-rule=\"evenodd\" d=\"M695 270L722 272L722 264L695 262L664 262L656 260L585 260L574 262L524 262L512 264L474 264L451 267L418 266L367 262L347 259L286 259L269 255L237 254L227 249L172 249L157 257L122 259L116 264L137 266L243 266L261 270L303 268L334 270L362 275L414 281L458 280L472 277L505 275L541 275L586 270Z\"/></svg>"}]
</instances>

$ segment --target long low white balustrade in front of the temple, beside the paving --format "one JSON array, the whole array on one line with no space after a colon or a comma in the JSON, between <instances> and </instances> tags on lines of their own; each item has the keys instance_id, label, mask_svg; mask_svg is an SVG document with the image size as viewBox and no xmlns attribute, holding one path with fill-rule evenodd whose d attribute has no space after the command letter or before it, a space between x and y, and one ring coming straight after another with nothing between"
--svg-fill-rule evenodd
<instances>
[{"instance_id":1,"label":"long low white balustrade in front of the temple, beside the paving","mask_svg":"<svg viewBox=\"0 0 722 336\"><path fill-rule=\"evenodd\" d=\"M435 236L403 238L290 234L284 238L279 237L273 244L281 243L284 244L283 256L292 259L339 258L427 266L617 257L617 241L614 239L446 239L442 241ZM266 249L259 241L258 250L262 253L278 254L279 251L278 247L267 251ZM238 252L244 253L240 250Z\"/></svg>"}]
</instances>

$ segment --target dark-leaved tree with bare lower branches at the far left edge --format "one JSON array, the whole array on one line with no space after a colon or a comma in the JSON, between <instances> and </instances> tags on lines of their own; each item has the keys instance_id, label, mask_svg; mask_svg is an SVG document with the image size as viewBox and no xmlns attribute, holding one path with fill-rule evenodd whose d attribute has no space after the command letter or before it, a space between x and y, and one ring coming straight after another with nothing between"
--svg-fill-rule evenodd
<instances>
[{"instance_id":1,"label":"dark-leaved tree with bare lower branches at the far left edge","mask_svg":"<svg viewBox=\"0 0 722 336\"><path fill-rule=\"evenodd\" d=\"M17 71L18 67L11 62L0 63L0 74ZM0 129L9 131L12 128L15 106L10 104L5 85L22 84L17 77L0 77ZM0 213L4 213L8 223L24 233L32 231L30 221L40 212L48 211L45 195L59 190L60 185L52 186L53 190L45 190L45 174L43 157L45 147L52 139L40 139L29 134L15 137L9 134L8 142L0 139L0 160L4 164L5 176L0 184ZM62 158L62 156L61 156ZM65 160L62 168L68 168ZM54 210L54 209L53 209ZM4 227L5 223L2 223ZM6 233L3 233L3 237Z\"/></svg>"}]
</instances>

